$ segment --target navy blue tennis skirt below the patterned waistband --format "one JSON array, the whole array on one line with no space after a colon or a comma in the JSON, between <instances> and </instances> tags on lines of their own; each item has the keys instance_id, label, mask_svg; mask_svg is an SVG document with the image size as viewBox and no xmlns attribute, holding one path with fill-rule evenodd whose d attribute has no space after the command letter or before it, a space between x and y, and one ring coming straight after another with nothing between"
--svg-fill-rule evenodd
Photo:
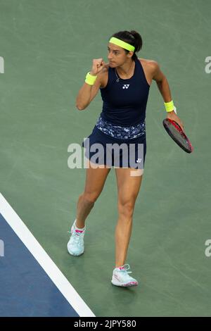
<instances>
[{"instance_id":1,"label":"navy blue tennis skirt below the patterned waistband","mask_svg":"<svg viewBox=\"0 0 211 331\"><path fill-rule=\"evenodd\" d=\"M146 157L146 134L133 139L117 139L94 126L84 139L85 156L92 163L116 168L143 169Z\"/></svg>"}]
</instances>

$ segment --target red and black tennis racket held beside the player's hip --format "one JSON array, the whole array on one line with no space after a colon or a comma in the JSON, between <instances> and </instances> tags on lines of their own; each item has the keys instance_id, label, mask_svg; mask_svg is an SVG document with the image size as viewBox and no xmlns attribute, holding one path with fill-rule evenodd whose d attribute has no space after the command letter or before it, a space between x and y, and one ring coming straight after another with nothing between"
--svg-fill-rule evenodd
<instances>
[{"instance_id":1,"label":"red and black tennis racket held beside the player's hip","mask_svg":"<svg viewBox=\"0 0 211 331\"><path fill-rule=\"evenodd\" d=\"M186 151L186 153L191 153L193 151L193 146L191 145L190 140L175 120L165 118L165 120L162 121L162 124L170 137L181 147L181 149Z\"/></svg>"}]
</instances>

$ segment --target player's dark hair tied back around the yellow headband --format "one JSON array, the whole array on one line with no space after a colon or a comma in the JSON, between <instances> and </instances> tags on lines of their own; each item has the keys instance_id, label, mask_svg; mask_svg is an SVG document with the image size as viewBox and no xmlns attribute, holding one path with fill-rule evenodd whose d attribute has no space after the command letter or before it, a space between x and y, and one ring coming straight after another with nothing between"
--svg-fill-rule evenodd
<instances>
[{"instance_id":1,"label":"player's dark hair tied back around the yellow headband","mask_svg":"<svg viewBox=\"0 0 211 331\"><path fill-rule=\"evenodd\" d=\"M132 60L137 58L136 52L140 51L142 49L143 41L141 38L141 35L139 35L139 32L136 32L135 30L132 31L119 31L116 32L111 37L115 37L118 39L121 39L123 42L127 42L128 44L131 44L135 47L134 54L132 56ZM127 49L124 49L124 51L128 54L129 51Z\"/></svg>"}]
</instances>

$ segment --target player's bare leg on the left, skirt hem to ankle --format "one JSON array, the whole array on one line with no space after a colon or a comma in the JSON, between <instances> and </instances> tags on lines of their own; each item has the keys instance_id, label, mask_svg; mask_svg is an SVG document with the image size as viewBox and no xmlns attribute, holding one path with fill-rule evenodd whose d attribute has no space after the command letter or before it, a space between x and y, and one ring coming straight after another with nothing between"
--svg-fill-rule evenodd
<instances>
[{"instance_id":1,"label":"player's bare leg on the left, skirt hem to ankle","mask_svg":"<svg viewBox=\"0 0 211 331\"><path fill-rule=\"evenodd\" d=\"M94 166L93 163L88 162L89 168L87 168L84 192L79 196L77 201L76 226L79 228L85 226L85 220L94 207L96 199L101 194L106 177L110 172L110 168L106 168L106 165L96 168L96 165Z\"/></svg>"}]
</instances>

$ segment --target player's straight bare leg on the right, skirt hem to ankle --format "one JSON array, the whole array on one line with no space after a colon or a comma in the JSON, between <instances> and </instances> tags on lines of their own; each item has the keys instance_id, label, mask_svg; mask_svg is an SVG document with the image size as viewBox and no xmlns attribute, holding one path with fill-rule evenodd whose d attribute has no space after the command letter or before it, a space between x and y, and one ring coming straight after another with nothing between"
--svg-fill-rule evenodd
<instances>
[{"instance_id":1,"label":"player's straight bare leg on the right, skirt hem to ankle","mask_svg":"<svg viewBox=\"0 0 211 331\"><path fill-rule=\"evenodd\" d=\"M115 267L123 266L132 233L132 216L141 180L140 169L115 168L119 218L115 230ZM137 173L137 175L135 175Z\"/></svg>"}]
</instances>

